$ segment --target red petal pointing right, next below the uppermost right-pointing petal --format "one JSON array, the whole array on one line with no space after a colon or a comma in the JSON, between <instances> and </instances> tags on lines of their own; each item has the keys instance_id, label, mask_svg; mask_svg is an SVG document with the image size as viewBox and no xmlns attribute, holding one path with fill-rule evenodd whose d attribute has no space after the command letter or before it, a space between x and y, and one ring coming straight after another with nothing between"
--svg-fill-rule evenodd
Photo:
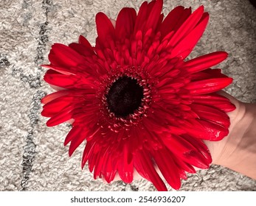
<instances>
[{"instance_id":1,"label":"red petal pointing right, next below the uppermost right-pointing petal","mask_svg":"<svg viewBox=\"0 0 256 206\"><path fill-rule=\"evenodd\" d=\"M190 82L189 85L186 86L190 93L194 95L204 94L204 93L212 93L230 85L232 83L232 78L216 78L216 79L204 79L201 81Z\"/></svg>"}]
</instances>

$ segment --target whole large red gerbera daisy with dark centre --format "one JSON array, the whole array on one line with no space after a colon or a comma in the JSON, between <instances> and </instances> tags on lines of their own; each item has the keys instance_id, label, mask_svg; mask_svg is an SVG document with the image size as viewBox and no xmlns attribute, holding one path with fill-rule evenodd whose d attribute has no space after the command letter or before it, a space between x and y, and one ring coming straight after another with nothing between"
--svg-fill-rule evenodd
<instances>
[{"instance_id":1,"label":"whole large red gerbera daisy with dark centre","mask_svg":"<svg viewBox=\"0 0 256 206\"><path fill-rule=\"evenodd\" d=\"M86 141L82 167L88 162L94 178L129 183L136 171L166 191L159 173L179 189L193 166L209 168L203 140L228 135L226 112L235 107L216 93L232 79L210 68L226 52L184 60L207 26L204 7L176 7L164 19L162 4L145 1L138 14L123 8L115 26L97 13L95 46L83 36L55 43L44 79L63 90L42 99L42 115L49 127L72 120L65 145L72 155Z\"/></svg>"}]
</instances>

